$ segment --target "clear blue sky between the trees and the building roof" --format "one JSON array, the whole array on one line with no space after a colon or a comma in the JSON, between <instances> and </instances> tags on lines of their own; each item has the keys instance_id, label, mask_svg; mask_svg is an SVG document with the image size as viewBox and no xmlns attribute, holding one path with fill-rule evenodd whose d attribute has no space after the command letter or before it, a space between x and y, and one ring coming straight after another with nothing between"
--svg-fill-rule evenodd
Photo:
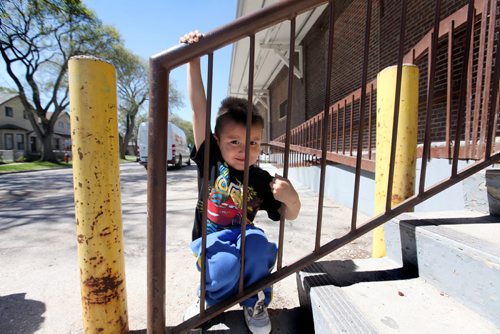
<instances>
[{"instance_id":1,"label":"clear blue sky between the trees and the building roof","mask_svg":"<svg viewBox=\"0 0 500 334\"><path fill-rule=\"evenodd\" d=\"M83 0L105 25L116 28L125 47L148 61L161 51L179 43L179 37L192 30L208 32L225 25L236 17L236 0ZM227 95L231 46L214 53L212 115ZM202 73L206 75L206 57L202 58ZM170 75L183 95L184 107L173 110L191 121L191 109L186 93L186 66L174 69ZM5 71L0 73L0 86L14 87ZM145 113L147 114L147 110ZM214 122L212 121L212 124Z\"/></svg>"}]
</instances>

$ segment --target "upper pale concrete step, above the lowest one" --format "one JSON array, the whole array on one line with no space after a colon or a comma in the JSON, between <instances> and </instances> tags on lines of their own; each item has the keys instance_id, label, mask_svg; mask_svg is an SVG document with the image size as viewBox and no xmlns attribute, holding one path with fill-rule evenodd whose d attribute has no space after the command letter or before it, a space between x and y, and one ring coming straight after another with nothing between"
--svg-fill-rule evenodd
<instances>
[{"instance_id":1,"label":"upper pale concrete step, above the lowest one","mask_svg":"<svg viewBox=\"0 0 500 334\"><path fill-rule=\"evenodd\" d=\"M500 326L500 217L409 213L384 226L388 258Z\"/></svg>"}]
</instances>

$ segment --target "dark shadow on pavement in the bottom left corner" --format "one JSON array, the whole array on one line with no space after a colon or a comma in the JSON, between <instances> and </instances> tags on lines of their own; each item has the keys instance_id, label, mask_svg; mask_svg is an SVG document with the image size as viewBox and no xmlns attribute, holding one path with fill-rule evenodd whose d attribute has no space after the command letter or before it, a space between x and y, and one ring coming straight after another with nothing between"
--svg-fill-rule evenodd
<instances>
[{"instance_id":1,"label":"dark shadow on pavement in the bottom left corner","mask_svg":"<svg viewBox=\"0 0 500 334\"><path fill-rule=\"evenodd\" d=\"M34 333L44 322L45 304L26 299L26 293L0 296L0 333Z\"/></svg>"}]
</instances>

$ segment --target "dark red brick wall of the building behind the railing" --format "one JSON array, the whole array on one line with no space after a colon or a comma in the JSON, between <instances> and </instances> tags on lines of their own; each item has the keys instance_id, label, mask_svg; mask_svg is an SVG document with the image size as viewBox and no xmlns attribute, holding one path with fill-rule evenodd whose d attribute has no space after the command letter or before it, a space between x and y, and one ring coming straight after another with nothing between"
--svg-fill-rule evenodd
<instances>
[{"instance_id":1,"label":"dark red brick wall of the building behind the railing","mask_svg":"<svg viewBox=\"0 0 500 334\"><path fill-rule=\"evenodd\" d=\"M334 30L334 45L332 57L332 82L330 90L330 103L338 101L347 94L361 86L361 75L364 52L364 29L366 23L366 1L337 1L336 20ZM434 0L408 1L407 19L405 29L404 53L408 52L425 34L427 34L434 24L434 12L436 2ZM444 19L453 12L462 8L468 3L467 0L442 0L440 18ZM498 11L498 10L497 10ZM302 89L298 92L294 101L292 127L298 125L302 119L310 119L324 109L325 99L325 70L327 58L328 39L328 10L325 10L320 19L310 30L306 38L302 41L304 48L304 79L301 85L296 86ZM400 0L374 0L372 8L372 22L370 33L370 49L368 62L368 80L374 79L377 73L387 66L397 63L399 31L400 31L401 1ZM498 20L498 19L497 19ZM476 23L475 30L475 53L478 51L477 40L480 23ZM455 33L453 52L453 94L452 94L452 124L456 121L458 110L458 92L463 61L464 49L464 28ZM427 110L427 55L416 60L420 69L420 92L419 92L419 131L418 140L424 138L424 122ZM435 94L432 104L431 138L433 141L444 141L446 133L446 87L447 87L447 39L442 39L438 47L437 69L435 79ZM477 69L474 68L477 72ZM279 91L279 87L286 82L286 73L280 74L271 85L273 94ZM282 93L279 93L282 94ZM273 138L284 133L284 127L277 120L279 113L279 102L283 100L283 95L273 97L272 122ZM281 96L279 98L279 96ZM298 100L297 100L298 99ZM303 102L301 102L303 99ZM374 98L375 100L375 98ZM298 105L299 107L295 107ZM368 102L365 107L367 108ZM346 121L350 121L351 106L347 107ZM343 129L343 108L339 114L339 125L336 124L336 115L333 118L330 132L351 133L352 138L346 140L346 145L350 142L357 143L358 123L359 123L359 103L354 107L354 127ZM375 124L375 108L372 114L372 122ZM277 123L276 123L277 122ZM365 131L368 121L365 119ZM372 127L372 137L375 136L375 126ZM454 133L452 130L451 136ZM332 138L335 135L331 136ZM343 143L343 142L342 142ZM332 141L331 147L336 143ZM366 147L366 138L364 139ZM340 146L340 143L339 143Z\"/></svg>"}]
</instances>

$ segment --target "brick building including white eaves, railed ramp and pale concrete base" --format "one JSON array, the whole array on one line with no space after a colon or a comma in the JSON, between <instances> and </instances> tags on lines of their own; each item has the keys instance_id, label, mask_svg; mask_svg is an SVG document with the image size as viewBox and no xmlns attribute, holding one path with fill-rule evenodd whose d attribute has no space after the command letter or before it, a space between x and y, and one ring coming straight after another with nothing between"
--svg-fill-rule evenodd
<instances>
[{"instance_id":1,"label":"brick building including white eaves, railed ramp and pale concrete base","mask_svg":"<svg viewBox=\"0 0 500 334\"><path fill-rule=\"evenodd\" d=\"M237 16L244 16L260 8L277 3L239 0ZM373 213L375 135L376 135L376 78L384 68L397 64L400 34L401 2L397 0L373 0L367 63L367 97L363 120L362 161L363 174L360 210ZM466 34L466 0L442 0L439 11L440 30L437 43L436 75L432 99L431 145L429 179L438 180L449 174L458 118L460 98L460 75L464 59ZM335 1L334 37L331 58L331 85L329 92L327 176L332 182L326 187L326 195L345 205L352 205L353 194L343 189L351 188L354 182L356 155L358 152L358 129L361 128L360 91L363 70L364 33L367 23L367 2L364 0ZM494 33L498 25L496 2L475 1L475 16L472 34L473 46L468 71L465 130L460 137L460 168L468 166L484 154L486 146L485 109L488 95L483 90L491 85L494 54ZM422 147L425 137L427 93L431 42L434 25L435 1L410 1L407 8L403 55L405 63L418 66L418 147L417 179L422 164ZM288 95L290 22L284 21L259 31L255 35L255 66L253 76L254 103L267 120L264 141L271 144L285 143L286 123L291 125L291 144L302 156L314 164L321 156L321 129L325 106L325 69L328 54L329 11L326 5L318 6L298 15L295 19L295 45L292 80L292 100ZM491 31L491 32L490 32ZM249 39L241 39L233 46L228 94L247 96ZM346 66L348 64L348 66ZM477 77L481 75L482 80ZM484 84L483 84L484 83ZM483 85L483 86L481 86ZM371 87L371 88L370 88ZM287 115L291 105L291 114ZM290 120L287 120L290 117ZM283 147L283 146L281 146ZM303 158L302 158L303 159ZM300 182L316 189L319 167L294 168L290 173ZM307 170L307 172L305 172ZM464 182L471 182L466 180ZM474 181L475 182L475 181ZM334 187L333 184L336 186ZM342 186L345 185L345 186ZM416 185L418 187L418 184ZM472 185L460 183L448 191L417 206L416 210L456 210L466 207L464 201L467 188ZM336 189L336 190L335 190ZM366 196L364 198L363 196ZM432 204L435 203L435 204ZM443 207L443 203L445 204Z\"/></svg>"}]
</instances>

